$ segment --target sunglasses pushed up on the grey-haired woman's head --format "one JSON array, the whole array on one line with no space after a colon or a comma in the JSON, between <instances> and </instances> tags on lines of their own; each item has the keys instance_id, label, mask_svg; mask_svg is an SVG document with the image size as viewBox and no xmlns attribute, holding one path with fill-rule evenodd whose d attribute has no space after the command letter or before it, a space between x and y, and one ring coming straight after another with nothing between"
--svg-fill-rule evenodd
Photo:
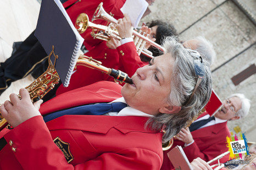
<instances>
[{"instance_id":1,"label":"sunglasses pushed up on the grey-haired woman's head","mask_svg":"<svg viewBox=\"0 0 256 170\"><path fill-rule=\"evenodd\" d=\"M202 81L202 78L204 78L205 75L205 68L204 68L204 64L203 64L203 58L202 56L195 50L192 49L188 49L188 51L192 54L191 56L194 59L194 72L196 73L196 75L198 76L197 79L197 84L194 87L194 90L190 96L190 99L192 98L192 96L194 95L194 93L196 92L199 84ZM188 101L190 101L190 99Z\"/></svg>"}]
</instances>

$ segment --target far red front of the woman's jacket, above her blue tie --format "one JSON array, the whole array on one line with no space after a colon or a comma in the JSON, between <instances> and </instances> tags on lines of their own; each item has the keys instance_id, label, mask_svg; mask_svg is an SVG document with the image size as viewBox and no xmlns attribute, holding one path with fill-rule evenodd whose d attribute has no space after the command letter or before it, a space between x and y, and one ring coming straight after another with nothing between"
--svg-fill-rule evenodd
<instances>
[{"instance_id":1,"label":"far red front of the woman's jacket, above her blue tie","mask_svg":"<svg viewBox=\"0 0 256 170\"><path fill-rule=\"evenodd\" d=\"M57 97L42 104L39 111L45 115L80 105L108 103L120 97L122 97L120 85L114 82L101 81L57 95Z\"/></svg>"}]
</instances>

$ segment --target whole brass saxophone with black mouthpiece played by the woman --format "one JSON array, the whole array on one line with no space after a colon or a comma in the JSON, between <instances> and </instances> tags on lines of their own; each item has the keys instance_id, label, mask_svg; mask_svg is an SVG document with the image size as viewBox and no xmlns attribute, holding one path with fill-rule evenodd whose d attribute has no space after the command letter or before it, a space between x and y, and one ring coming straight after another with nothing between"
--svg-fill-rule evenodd
<instances>
[{"instance_id":1,"label":"whole brass saxophone with black mouthpiece played by the woman","mask_svg":"<svg viewBox=\"0 0 256 170\"><path fill-rule=\"evenodd\" d=\"M54 64L52 64L51 61L52 54L55 57ZM33 103L42 99L44 95L46 95L51 89L54 88L55 84L59 83L59 75L54 67L56 59L58 59L58 55L54 54L53 47L52 52L48 56L49 66L47 70L29 86L25 87L29 91L30 99ZM114 77L117 81L133 84L132 79L127 75L127 73L124 73L120 70L109 69L107 67L104 67L101 65L100 61L94 60L91 57L80 55L76 65L90 67L91 69L96 69L104 73L107 73L109 76ZM20 98L19 94L18 97ZM4 127L12 129L10 124L8 124L5 118L3 118L0 112L0 131L2 131Z\"/></svg>"}]
</instances>

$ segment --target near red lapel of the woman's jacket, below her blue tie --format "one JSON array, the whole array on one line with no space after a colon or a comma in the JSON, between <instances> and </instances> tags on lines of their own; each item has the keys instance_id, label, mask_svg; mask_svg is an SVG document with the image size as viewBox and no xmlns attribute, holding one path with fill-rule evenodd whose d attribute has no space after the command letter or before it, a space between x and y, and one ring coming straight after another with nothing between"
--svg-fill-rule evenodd
<instances>
[{"instance_id":1,"label":"near red lapel of the woman's jacket, below her blue tie","mask_svg":"<svg viewBox=\"0 0 256 170\"><path fill-rule=\"evenodd\" d=\"M48 129L75 129L94 133L107 133L110 128L116 128L122 133L131 131L157 133L144 129L147 117L140 116L95 116L95 115L65 115L46 123Z\"/></svg>"}]
</instances>

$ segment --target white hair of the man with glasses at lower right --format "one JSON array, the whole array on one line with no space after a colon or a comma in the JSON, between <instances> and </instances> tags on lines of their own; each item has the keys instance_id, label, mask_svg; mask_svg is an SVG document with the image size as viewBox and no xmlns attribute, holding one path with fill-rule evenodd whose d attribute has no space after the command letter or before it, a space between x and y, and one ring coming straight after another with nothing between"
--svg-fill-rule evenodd
<instances>
[{"instance_id":1,"label":"white hair of the man with glasses at lower right","mask_svg":"<svg viewBox=\"0 0 256 170\"><path fill-rule=\"evenodd\" d=\"M239 116L240 118L246 117L249 113L250 106L251 106L250 100L247 99L246 96L244 94L241 94L241 93L232 94L232 95L230 95L229 98L232 98L232 97L237 97L242 102L242 107L241 107L240 110L238 110L236 112L236 116Z\"/></svg>"}]
</instances>

